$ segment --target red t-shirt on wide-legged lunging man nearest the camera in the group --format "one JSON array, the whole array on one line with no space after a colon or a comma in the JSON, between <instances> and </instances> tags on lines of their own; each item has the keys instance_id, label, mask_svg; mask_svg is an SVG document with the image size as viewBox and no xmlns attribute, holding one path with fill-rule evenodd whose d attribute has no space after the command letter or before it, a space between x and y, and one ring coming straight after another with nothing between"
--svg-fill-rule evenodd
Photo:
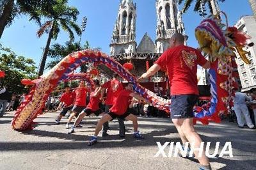
<instances>
[{"instance_id":1,"label":"red t-shirt on wide-legged lunging man nearest the camera in the group","mask_svg":"<svg viewBox=\"0 0 256 170\"><path fill-rule=\"evenodd\" d=\"M116 98L115 104L109 109L109 111L114 112L117 115L124 114L127 111L129 102L132 99L132 97L130 97L131 93L132 91L130 90L122 89Z\"/></svg>"}]
</instances>

